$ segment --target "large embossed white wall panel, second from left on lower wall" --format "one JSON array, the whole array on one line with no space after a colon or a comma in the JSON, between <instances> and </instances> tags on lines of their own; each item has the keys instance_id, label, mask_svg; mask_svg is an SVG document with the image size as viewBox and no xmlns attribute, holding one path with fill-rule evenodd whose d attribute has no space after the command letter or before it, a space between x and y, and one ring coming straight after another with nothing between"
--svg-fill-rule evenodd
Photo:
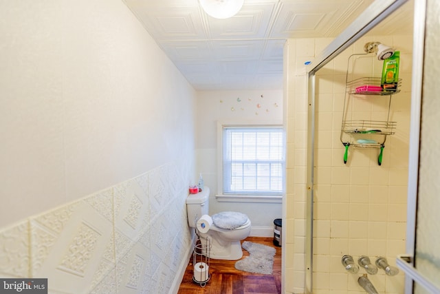
<instances>
[{"instance_id":1,"label":"large embossed white wall panel, second from left on lower wall","mask_svg":"<svg viewBox=\"0 0 440 294\"><path fill-rule=\"evenodd\" d=\"M31 220L32 257L39 257L31 260L32 276L47 277L50 291L88 292L114 269L115 253L109 246L113 244L113 222L107 219L107 213L113 216L113 196L104 191L75 202L67 220L59 211ZM58 235L50 228L57 226L40 222L42 219L63 222Z\"/></svg>"}]
</instances>

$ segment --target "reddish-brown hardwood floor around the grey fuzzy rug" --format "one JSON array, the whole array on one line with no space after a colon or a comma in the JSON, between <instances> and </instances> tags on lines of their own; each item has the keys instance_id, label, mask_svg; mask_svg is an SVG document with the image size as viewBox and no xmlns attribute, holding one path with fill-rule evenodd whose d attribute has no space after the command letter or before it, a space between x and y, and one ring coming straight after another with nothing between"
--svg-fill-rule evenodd
<instances>
[{"instance_id":1,"label":"reddish-brown hardwood floor around the grey fuzzy rug","mask_svg":"<svg viewBox=\"0 0 440 294\"><path fill-rule=\"evenodd\" d=\"M180 284L178 294L281 294L281 247L274 246L273 238L248 237L244 241L274 247L276 254L272 275L248 273L235 269L236 260L210 260L211 278L201 287L192 281L192 257ZM243 249L243 258L249 256Z\"/></svg>"}]
</instances>

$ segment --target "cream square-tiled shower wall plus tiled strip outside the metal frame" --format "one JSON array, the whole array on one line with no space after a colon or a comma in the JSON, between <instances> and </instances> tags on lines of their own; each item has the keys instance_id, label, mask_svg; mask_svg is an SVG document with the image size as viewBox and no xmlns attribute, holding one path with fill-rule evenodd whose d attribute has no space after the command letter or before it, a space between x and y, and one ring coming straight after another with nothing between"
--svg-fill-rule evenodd
<instances>
[{"instance_id":1,"label":"cream square-tiled shower wall plus tiled strip outside the metal frame","mask_svg":"<svg viewBox=\"0 0 440 294\"><path fill-rule=\"evenodd\" d=\"M347 59L353 52L362 50L353 45L326 65L326 70L317 76L316 101L316 149L315 149L315 206L314 206L314 293L364 293L358 285L359 275L344 271L341 258L344 254L369 255L375 260L383 255L390 264L395 256L404 252L406 229L406 183L408 176L408 123L410 118L410 47L405 42L411 36L370 36L377 41L401 50L401 77L404 78L401 92L393 96L392 119L397 120L396 135L386 141L382 166L377 165L377 150L349 150L349 162L344 165L344 147L340 143L342 104L344 103L345 72ZM387 43L388 42L388 43ZM292 39L285 50L289 52L287 95L287 247L285 260L286 293L304 293L305 268L305 191L307 156L307 104L304 87L307 76L303 74L303 56L314 56L328 40ZM358 44L357 43L357 44ZM314 45L315 44L315 45ZM322 44L322 45L321 45ZM303 48L301 52L298 48ZM322 49L322 48L320 48ZM304 52L304 50L309 50ZM405 63L405 65L404 65ZM404 66L403 66L404 65ZM335 71L333 71L335 70ZM366 70L370 72L370 70ZM301 87L297 87L301 85ZM396 101L396 102L395 102ZM358 99L353 106L356 115L365 119L377 119L384 115L384 103L371 103ZM386 109L386 108L385 108ZM385 112L386 113L386 112ZM381 118L381 120L383 120ZM299 195L298 195L299 193ZM289 236L292 234L294 237ZM293 246L292 246L293 244ZM290 253L290 250L295 250ZM293 278L293 279L292 279ZM404 275L388 277L384 271L371 276L371 281L380 293L402 293Z\"/></svg>"}]
</instances>

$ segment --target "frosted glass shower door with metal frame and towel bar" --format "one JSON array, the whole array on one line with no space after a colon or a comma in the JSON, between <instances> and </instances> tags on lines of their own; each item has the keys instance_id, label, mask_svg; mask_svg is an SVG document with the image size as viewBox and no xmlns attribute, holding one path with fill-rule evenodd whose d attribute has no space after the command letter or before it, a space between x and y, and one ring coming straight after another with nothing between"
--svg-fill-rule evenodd
<instances>
[{"instance_id":1,"label":"frosted glass shower door with metal frame and towel bar","mask_svg":"<svg viewBox=\"0 0 440 294\"><path fill-rule=\"evenodd\" d=\"M397 264L406 272L406 293L440 293L439 15L440 1L416 1L415 22L419 28L416 25L415 30L419 30L421 37L418 44L420 63L416 67L421 68L419 76L413 75L414 83L419 80L418 87L415 87L419 93L416 90L412 95L415 100L412 104L412 114L415 114L412 119L417 120L415 125L419 128L412 130L419 133L419 138L415 136L412 140L414 145L411 147L415 148L412 148L414 152L410 151L410 160L415 161L410 181L414 183L414 189L408 188L408 205L411 203L410 198L413 198L414 206L408 206L408 216L413 219L412 225L408 222L408 235L412 233L414 238L408 238L408 255L401 255L397 260ZM423 20L425 16L426 21ZM417 32L415 36L417 38ZM414 54L417 59L417 52Z\"/></svg>"}]
</instances>

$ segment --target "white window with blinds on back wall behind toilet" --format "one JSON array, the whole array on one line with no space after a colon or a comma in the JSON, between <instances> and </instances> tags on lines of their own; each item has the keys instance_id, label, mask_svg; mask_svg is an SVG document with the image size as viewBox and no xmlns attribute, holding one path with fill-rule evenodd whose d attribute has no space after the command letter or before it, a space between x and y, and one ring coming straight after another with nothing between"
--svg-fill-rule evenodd
<instances>
[{"instance_id":1,"label":"white window with blinds on back wall behind toilet","mask_svg":"<svg viewBox=\"0 0 440 294\"><path fill-rule=\"evenodd\" d=\"M281 126L222 127L223 195L281 196L285 170Z\"/></svg>"}]
</instances>

